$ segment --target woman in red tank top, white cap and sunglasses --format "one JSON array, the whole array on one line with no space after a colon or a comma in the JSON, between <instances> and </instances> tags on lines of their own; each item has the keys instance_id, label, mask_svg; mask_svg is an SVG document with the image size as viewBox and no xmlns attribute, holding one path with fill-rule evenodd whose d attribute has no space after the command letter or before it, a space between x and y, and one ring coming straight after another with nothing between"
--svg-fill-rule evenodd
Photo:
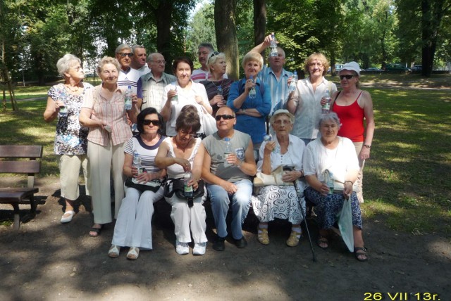
<instances>
[{"instance_id":1,"label":"woman in red tank top, white cap and sunglasses","mask_svg":"<svg viewBox=\"0 0 451 301\"><path fill-rule=\"evenodd\" d=\"M359 89L359 64L356 62L346 63L338 75L340 76L340 84L343 90L333 94L333 101L330 105L341 121L338 136L351 139L359 157L360 169L357 177L357 198L359 198L359 203L364 203L362 191L363 169L365 160L369 159L375 127L373 101L368 91ZM366 128L364 124L366 124Z\"/></svg>"}]
</instances>

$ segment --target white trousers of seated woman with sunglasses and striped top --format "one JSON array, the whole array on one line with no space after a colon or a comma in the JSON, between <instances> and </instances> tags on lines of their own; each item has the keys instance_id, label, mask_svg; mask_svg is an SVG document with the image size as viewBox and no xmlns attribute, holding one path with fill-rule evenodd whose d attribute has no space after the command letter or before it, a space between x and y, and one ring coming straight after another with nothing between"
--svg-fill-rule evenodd
<instances>
[{"instance_id":1,"label":"white trousers of seated woman with sunglasses and striped top","mask_svg":"<svg viewBox=\"0 0 451 301\"><path fill-rule=\"evenodd\" d=\"M162 187L156 192L143 193L135 188L125 187L125 198L122 200L111 244L152 250L151 222L154 203L161 198L163 198Z\"/></svg>"}]
</instances>

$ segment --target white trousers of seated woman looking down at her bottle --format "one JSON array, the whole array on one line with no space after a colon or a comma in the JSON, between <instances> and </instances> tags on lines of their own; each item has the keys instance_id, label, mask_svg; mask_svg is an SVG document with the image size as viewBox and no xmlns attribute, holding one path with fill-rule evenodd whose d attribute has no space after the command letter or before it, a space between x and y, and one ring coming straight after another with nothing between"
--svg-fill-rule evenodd
<instances>
[{"instance_id":1,"label":"white trousers of seated woman looking down at her bottle","mask_svg":"<svg viewBox=\"0 0 451 301\"><path fill-rule=\"evenodd\" d=\"M194 198L192 207L188 207L187 200L178 198L175 193L172 198L166 198L166 202L172 206L171 219L174 222L177 240L180 243L190 243L192 234L194 243L206 243L206 213L202 197Z\"/></svg>"}]
</instances>

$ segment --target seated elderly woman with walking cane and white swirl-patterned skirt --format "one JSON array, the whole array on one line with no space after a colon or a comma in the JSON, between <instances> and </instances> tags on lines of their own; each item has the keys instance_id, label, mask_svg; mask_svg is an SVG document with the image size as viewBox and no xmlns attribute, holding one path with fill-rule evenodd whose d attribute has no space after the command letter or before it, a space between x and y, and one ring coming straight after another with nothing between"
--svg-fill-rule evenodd
<instances>
[{"instance_id":1,"label":"seated elderly woman with walking cane and white swirl-patterned skirt","mask_svg":"<svg viewBox=\"0 0 451 301\"><path fill-rule=\"evenodd\" d=\"M276 132L276 139L261 143L257 169L264 174L271 174L279 165L290 165L292 171L283 174L284 182L292 183L302 178L302 153L305 143L297 136L290 135L295 116L288 110L276 110L270 123ZM304 193L302 183L298 185L299 195ZM302 202L302 204L301 204ZM258 226L259 242L268 245L268 222L274 219L288 219L292 224L291 234L286 244L295 247L301 238L301 222L305 210L304 198L299 200L295 186L268 185L261 188L257 197L252 197L254 213L260 221Z\"/></svg>"}]
</instances>

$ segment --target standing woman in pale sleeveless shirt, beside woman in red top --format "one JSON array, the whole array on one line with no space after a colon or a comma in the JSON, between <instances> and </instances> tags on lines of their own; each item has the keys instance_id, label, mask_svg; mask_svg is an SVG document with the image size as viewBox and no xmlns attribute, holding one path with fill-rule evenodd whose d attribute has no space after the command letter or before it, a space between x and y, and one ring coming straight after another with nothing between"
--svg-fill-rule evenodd
<instances>
[{"instance_id":1,"label":"standing woman in pale sleeveless shirt, beside woman in red top","mask_svg":"<svg viewBox=\"0 0 451 301\"><path fill-rule=\"evenodd\" d=\"M313 53L304 61L304 72L309 75L299 79L295 92L288 96L287 108L295 115L295 124L291 134L298 136L307 145L319 136L318 124L321 117L321 98L326 90L329 95L337 91L337 86L329 82L327 74L329 62L323 53ZM291 79L288 79L290 85Z\"/></svg>"}]
</instances>

